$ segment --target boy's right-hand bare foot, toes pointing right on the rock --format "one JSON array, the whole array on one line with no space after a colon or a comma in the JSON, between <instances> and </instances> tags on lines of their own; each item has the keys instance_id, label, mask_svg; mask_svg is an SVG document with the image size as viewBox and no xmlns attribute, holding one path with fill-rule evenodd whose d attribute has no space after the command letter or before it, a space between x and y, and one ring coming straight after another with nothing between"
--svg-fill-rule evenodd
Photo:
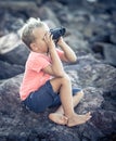
<instances>
[{"instance_id":1,"label":"boy's right-hand bare foot, toes pointing right on the rock","mask_svg":"<svg viewBox=\"0 0 116 141\"><path fill-rule=\"evenodd\" d=\"M91 118L90 112L85 115L74 114L74 116L68 119L67 126L73 127L73 126L81 125L88 121L90 118Z\"/></svg>"}]
</instances>

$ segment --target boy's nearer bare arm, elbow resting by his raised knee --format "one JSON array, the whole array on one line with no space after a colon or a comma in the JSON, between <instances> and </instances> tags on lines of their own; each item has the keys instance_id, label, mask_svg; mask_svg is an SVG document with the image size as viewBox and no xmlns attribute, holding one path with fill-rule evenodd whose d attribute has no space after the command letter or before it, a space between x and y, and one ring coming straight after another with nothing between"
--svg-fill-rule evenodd
<instances>
[{"instance_id":1,"label":"boy's nearer bare arm, elbow resting by his raised knee","mask_svg":"<svg viewBox=\"0 0 116 141\"><path fill-rule=\"evenodd\" d=\"M44 41L48 44L52 63L51 65L43 68L43 72L55 77L62 77L64 75L64 68L55 50L55 44L54 41L52 40L52 36L50 36L50 34L47 34L44 37Z\"/></svg>"}]
</instances>

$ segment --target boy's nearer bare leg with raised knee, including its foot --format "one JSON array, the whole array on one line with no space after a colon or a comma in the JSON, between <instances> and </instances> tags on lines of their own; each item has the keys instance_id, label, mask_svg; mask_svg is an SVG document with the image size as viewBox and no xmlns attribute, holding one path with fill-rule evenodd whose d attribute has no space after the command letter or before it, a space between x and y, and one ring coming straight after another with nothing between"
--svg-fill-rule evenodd
<instances>
[{"instance_id":1,"label":"boy's nearer bare leg with raised knee, including its foot","mask_svg":"<svg viewBox=\"0 0 116 141\"><path fill-rule=\"evenodd\" d=\"M72 84L67 75L62 78L54 78L50 82L55 92L60 91L64 115L68 118L67 126L80 125L91 118L90 113L87 113L86 115L77 115L74 112Z\"/></svg>"}]
</instances>

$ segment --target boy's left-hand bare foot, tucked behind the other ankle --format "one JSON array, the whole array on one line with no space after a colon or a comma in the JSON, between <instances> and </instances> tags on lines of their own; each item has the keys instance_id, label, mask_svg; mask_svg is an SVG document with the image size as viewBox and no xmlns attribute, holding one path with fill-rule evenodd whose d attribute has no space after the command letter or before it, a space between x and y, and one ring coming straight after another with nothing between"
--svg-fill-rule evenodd
<instances>
[{"instance_id":1,"label":"boy's left-hand bare foot, tucked behind the other ankle","mask_svg":"<svg viewBox=\"0 0 116 141\"><path fill-rule=\"evenodd\" d=\"M59 113L51 113L49 115L49 118L59 124L59 125L66 125L67 124L67 117L62 115L62 114L59 114Z\"/></svg>"}]
</instances>

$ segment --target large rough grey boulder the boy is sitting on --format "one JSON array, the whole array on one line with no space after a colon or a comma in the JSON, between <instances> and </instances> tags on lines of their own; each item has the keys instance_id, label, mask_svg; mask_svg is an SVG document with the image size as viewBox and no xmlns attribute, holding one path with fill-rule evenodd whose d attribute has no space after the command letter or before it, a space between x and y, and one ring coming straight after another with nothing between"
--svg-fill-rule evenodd
<instances>
[{"instance_id":1,"label":"large rough grey boulder the boy is sitting on","mask_svg":"<svg viewBox=\"0 0 116 141\"><path fill-rule=\"evenodd\" d=\"M1 140L109 141L115 138L116 68L83 56L78 59L78 64L65 66L65 69L73 86L81 87L85 91L85 98L75 108L76 113L90 111L92 118L83 125L68 128L49 120L49 113L56 107L40 114L26 110L20 100L23 75L18 75L0 85Z\"/></svg>"}]
</instances>

